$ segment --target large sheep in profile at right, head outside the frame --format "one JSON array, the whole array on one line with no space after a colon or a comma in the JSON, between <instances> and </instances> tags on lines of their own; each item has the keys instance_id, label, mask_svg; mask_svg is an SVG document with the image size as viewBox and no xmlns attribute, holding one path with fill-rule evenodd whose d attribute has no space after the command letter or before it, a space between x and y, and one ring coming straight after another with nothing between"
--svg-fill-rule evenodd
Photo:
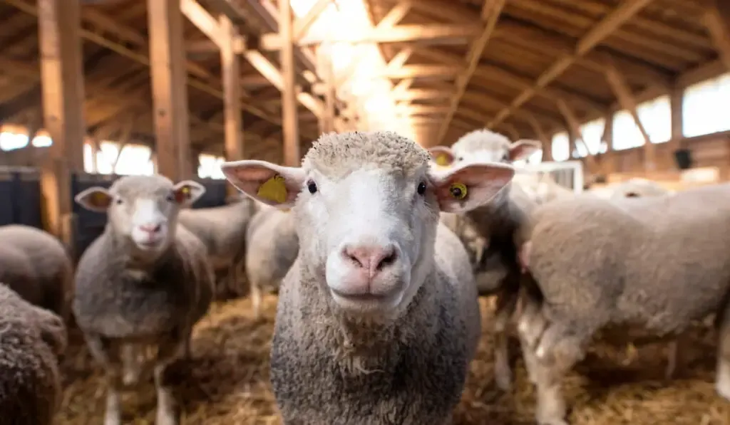
<instances>
[{"instance_id":1,"label":"large sheep in profile at right, head outside the frame","mask_svg":"<svg viewBox=\"0 0 730 425\"><path fill-rule=\"evenodd\" d=\"M672 196L581 196L535 211L520 250L534 284L520 297L518 332L539 424L566 424L561 378L609 325L666 338L716 313L716 389L730 399L729 195L730 184L718 184Z\"/></svg>"}]
</instances>

